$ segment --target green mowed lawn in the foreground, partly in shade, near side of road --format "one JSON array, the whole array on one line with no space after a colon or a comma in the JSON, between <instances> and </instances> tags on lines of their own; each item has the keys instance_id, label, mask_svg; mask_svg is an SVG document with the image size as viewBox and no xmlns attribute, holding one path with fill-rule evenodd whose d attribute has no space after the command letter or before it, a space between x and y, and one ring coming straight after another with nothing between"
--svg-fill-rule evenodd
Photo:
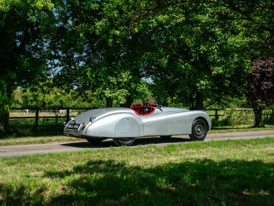
<instances>
[{"instance_id":1,"label":"green mowed lawn in the foreground, partly in shade, near side of road","mask_svg":"<svg viewBox=\"0 0 274 206\"><path fill-rule=\"evenodd\" d=\"M274 137L0 159L0 205L274 205Z\"/></svg>"}]
</instances>

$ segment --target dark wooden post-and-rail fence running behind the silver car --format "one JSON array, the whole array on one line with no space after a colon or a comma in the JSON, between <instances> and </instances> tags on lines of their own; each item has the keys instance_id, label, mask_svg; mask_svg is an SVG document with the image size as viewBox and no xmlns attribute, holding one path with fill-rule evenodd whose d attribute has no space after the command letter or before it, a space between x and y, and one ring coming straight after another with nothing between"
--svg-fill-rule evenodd
<instances>
[{"instance_id":1,"label":"dark wooden post-and-rail fence running behind the silver car","mask_svg":"<svg viewBox=\"0 0 274 206\"><path fill-rule=\"evenodd\" d=\"M97 109L97 108L47 108L47 110L54 110L56 111L55 113L58 114L59 110L65 110L65 116L39 116L40 111L46 111L45 109L42 108L10 108L11 110L35 110L35 116L10 116L10 119L35 119L35 130L38 130L39 126L50 126L50 125L38 125L39 118L65 118L66 122L69 121L70 117L70 110L91 110L91 109ZM227 111L231 110L229 108L222 109L222 108L213 108L213 109L204 109L205 112L209 114L210 117L214 117L216 120L219 119L220 116L226 116L228 114L220 114L220 111ZM242 111L252 111L250 108L237 108L236 110L242 110ZM265 108L264 110L270 110L271 114L267 112L267 114L263 115L270 115L271 116L271 122L274 123L274 108ZM44 112L46 114L46 112Z\"/></svg>"}]
</instances>

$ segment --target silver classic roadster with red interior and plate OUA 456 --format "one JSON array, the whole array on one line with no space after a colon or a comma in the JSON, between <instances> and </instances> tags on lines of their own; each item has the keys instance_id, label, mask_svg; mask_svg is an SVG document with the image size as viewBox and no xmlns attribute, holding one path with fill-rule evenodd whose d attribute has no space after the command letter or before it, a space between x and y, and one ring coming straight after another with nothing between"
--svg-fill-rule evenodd
<instances>
[{"instance_id":1,"label":"silver classic roadster with red interior and plate OUA 456","mask_svg":"<svg viewBox=\"0 0 274 206\"><path fill-rule=\"evenodd\" d=\"M101 142L112 138L118 146L130 146L135 138L189 134L191 140L204 140L211 120L201 110L136 104L131 108L100 108L78 114L64 122L64 135Z\"/></svg>"}]
</instances>

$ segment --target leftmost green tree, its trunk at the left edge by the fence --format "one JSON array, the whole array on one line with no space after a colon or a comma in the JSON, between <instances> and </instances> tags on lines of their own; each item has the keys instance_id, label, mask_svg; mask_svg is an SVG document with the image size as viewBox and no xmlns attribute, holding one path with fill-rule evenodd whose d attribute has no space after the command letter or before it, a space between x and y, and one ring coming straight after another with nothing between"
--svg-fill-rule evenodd
<instances>
[{"instance_id":1,"label":"leftmost green tree, its trunk at the left edge by the fence","mask_svg":"<svg viewBox=\"0 0 274 206\"><path fill-rule=\"evenodd\" d=\"M47 41L55 27L50 0L4 0L0 2L0 124L9 124L13 91L45 79Z\"/></svg>"}]
</instances>

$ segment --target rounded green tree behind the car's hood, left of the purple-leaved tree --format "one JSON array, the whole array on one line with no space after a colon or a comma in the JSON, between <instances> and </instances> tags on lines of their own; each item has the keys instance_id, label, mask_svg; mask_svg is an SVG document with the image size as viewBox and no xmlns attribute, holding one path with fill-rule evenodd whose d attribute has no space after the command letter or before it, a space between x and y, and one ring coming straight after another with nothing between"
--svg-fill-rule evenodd
<instances>
[{"instance_id":1,"label":"rounded green tree behind the car's hood, left of the purple-leaved tree","mask_svg":"<svg viewBox=\"0 0 274 206\"><path fill-rule=\"evenodd\" d=\"M165 22L158 42L162 62L153 64L151 77L154 93L162 100L175 96L192 110L202 110L205 99L213 104L238 93L249 68L249 39L242 38L236 25L215 23L210 4L194 8L185 9L181 18L174 13Z\"/></svg>"}]
</instances>

